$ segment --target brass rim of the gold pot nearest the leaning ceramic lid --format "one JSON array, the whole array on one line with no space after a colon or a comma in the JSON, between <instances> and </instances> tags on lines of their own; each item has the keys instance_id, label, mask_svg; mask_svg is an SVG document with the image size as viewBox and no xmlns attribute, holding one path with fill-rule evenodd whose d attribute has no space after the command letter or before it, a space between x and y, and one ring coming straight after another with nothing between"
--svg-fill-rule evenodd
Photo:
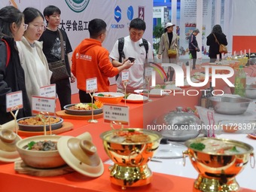
<instances>
[{"instance_id":1,"label":"brass rim of the gold pot nearest the leaning ceramic lid","mask_svg":"<svg viewBox=\"0 0 256 192\"><path fill-rule=\"evenodd\" d=\"M146 134L148 133L149 135L154 134L155 136L157 136L157 138L154 139L154 140L151 140L149 142L122 142L122 143L112 142L110 139L105 139L106 136L110 135L111 133L120 131L120 130L136 130L136 131L143 132L143 133L146 133ZM160 141L160 139L162 139L162 137L163 136L160 133L158 133L157 131L146 130L146 129L143 129L143 128L124 128L124 129L118 129L118 130L109 130L109 131L106 131L106 132L100 134L100 138L103 141L111 142L111 143L117 143L117 144L120 144L120 145L141 145L141 144L153 143L153 142L157 142L158 140Z\"/></svg>"}]
</instances>

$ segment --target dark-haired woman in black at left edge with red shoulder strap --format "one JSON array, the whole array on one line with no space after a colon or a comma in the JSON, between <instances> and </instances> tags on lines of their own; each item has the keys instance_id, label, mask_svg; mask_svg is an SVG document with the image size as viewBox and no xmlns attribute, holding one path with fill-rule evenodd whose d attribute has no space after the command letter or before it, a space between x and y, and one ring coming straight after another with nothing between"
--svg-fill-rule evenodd
<instances>
[{"instance_id":1,"label":"dark-haired woman in black at left edge with red shoulder strap","mask_svg":"<svg viewBox=\"0 0 256 192\"><path fill-rule=\"evenodd\" d=\"M23 108L20 108L17 119L32 115L16 46L16 41L21 40L26 27L23 13L14 6L0 10L0 124L14 120L11 113L6 112L6 94L11 92L23 93Z\"/></svg>"}]
</instances>

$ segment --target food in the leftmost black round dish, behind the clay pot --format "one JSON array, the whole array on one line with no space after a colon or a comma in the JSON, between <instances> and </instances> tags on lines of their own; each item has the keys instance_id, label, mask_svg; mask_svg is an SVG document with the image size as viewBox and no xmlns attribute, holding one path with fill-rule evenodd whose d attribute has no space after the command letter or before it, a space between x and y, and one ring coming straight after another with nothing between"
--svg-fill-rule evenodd
<instances>
[{"instance_id":1,"label":"food in the leftmost black round dish, behind the clay pot","mask_svg":"<svg viewBox=\"0 0 256 192\"><path fill-rule=\"evenodd\" d=\"M43 120L47 120L47 117L44 115L41 116ZM60 121L59 117L50 117L50 124L58 123ZM44 121L41 120L39 116L25 118L23 120L19 120L18 123L23 125L44 125ZM49 125L49 120L45 122Z\"/></svg>"}]
</instances>

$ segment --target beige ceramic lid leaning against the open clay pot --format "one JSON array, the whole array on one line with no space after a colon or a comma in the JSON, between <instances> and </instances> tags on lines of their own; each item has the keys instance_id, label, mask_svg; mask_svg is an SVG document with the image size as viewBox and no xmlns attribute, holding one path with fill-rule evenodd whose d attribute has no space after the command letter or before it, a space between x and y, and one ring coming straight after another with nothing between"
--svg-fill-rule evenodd
<instances>
[{"instance_id":1,"label":"beige ceramic lid leaning against the open clay pot","mask_svg":"<svg viewBox=\"0 0 256 192\"><path fill-rule=\"evenodd\" d=\"M90 140L62 136L57 147L62 159L82 175L95 178L104 172L104 166L97 154L96 146Z\"/></svg>"}]
</instances>

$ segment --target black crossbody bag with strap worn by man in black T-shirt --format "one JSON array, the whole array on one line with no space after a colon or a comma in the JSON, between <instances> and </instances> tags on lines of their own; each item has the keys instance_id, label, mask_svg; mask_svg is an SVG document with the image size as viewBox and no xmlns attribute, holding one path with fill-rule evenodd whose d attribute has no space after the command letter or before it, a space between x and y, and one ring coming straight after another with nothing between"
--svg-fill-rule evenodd
<instances>
[{"instance_id":1,"label":"black crossbody bag with strap worn by man in black T-shirt","mask_svg":"<svg viewBox=\"0 0 256 192\"><path fill-rule=\"evenodd\" d=\"M61 46L61 60L48 63L50 71L53 72L50 78L50 81L52 82L69 78L69 73L67 71L65 58L64 58L63 37L59 29L58 29L58 32L59 32L60 46Z\"/></svg>"}]
</instances>

